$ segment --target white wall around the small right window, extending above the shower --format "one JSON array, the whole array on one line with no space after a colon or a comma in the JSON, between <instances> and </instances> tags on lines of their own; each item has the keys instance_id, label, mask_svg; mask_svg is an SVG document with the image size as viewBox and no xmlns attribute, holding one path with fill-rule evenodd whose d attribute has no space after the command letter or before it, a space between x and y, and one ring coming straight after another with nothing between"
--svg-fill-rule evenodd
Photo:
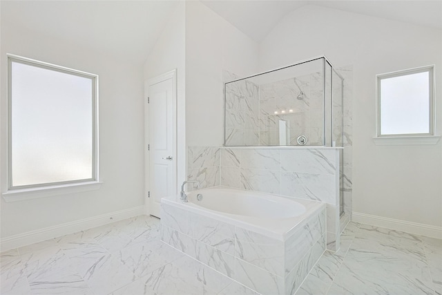
<instances>
[{"instance_id":1,"label":"white wall around the small right window, extending above the shower","mask_svg":"<svg viewBox=\"0 0 442 295\"><path fill-rule=\"evenodd\" d=\"M436 132L442 130L442 32L319 6L291 12L260 44L260 70L326 55L354 66L353 209L442 226L442 141L376 146L375 75L436 65Z\"/></svg>"}]
</instances>

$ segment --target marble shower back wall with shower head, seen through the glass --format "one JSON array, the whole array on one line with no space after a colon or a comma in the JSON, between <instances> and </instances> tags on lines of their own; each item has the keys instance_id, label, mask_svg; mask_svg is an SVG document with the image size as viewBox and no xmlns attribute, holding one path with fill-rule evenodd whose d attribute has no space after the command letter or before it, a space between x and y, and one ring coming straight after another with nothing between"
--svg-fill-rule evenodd
<instances>
[{"instance_id":1,"label":"marble shower back wall with shower head, seen through the glass","mask_svg":"<svg viewBox=\"0 0 442 295\"><path fill-rule=\"evenodd\" d=\"M323 74L312 73L260 85L260 145L279 145L279 124L287 126L287 145L298 145L300 135L307 145L324 141Z\"/></svg>"}]
</instances>

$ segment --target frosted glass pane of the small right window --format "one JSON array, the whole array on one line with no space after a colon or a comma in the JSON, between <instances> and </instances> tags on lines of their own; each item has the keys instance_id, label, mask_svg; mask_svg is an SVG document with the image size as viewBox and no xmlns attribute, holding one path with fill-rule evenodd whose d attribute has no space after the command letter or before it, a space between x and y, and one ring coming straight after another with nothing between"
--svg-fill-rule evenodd
<instances>
[{"instance_id":1,"label":"frosted glass pane of the small right window","mask_svg":"<svg viewBox=\"0 0 442 295\"><path fill-rule=\"evenodd\" d=\"M381 79L381 135L430 133L430 73Z\"/></svg>"}]
</instances>

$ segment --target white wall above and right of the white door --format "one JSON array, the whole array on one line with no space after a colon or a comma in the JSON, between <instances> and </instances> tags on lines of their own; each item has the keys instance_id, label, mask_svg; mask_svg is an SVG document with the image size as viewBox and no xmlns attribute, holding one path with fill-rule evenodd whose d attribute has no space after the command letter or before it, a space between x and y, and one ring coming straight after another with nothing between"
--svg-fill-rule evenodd
<instances>
[{"instance_id":1,"label":"white wall above and right of the white door","mask_svg":"<svg viewBox=\"0 0 442 295\"><path fill-rule=\"evenodd\" d=\"M144 81L157 77L171 70L177 70L177 184L186 180L186 78L185 78L185 41L186 21L185 3L178 2L169 17L160 39L144 63ZM146 115L147 120L147 115ZM147 133L146 133L147 134ZM148 159L147 159L148 160ZM148 180L148 170L144 171ZM148 191L148 188L146 188ZM146 200L146 212L149 212Z\"/></svg>"}]
</instances>

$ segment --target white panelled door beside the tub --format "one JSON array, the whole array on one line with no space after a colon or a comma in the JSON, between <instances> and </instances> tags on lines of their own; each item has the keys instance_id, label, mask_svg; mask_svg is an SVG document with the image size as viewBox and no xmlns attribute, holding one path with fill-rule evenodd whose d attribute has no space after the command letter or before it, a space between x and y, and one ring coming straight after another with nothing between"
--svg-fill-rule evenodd
<instances>
[{"instance_id":1,"label":"white panelled door beside the tub","mask_svg":"<svg viewBox=\"0 0 442 295\"><path fill-rule=\"evenodd\" d=\"M148 82L148 202L160 216L161 198L175 195L175 71Z\"/></svg>"}]
</instances>

